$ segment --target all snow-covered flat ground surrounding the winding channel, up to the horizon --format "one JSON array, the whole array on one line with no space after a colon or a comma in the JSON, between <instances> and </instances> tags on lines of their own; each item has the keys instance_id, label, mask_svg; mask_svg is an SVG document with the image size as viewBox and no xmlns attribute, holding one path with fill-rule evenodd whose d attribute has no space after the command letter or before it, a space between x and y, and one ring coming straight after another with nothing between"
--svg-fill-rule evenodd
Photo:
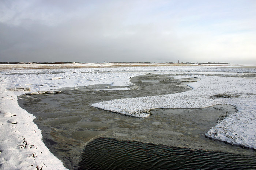
<instances>
[{"instance_id":1,"label":"all snow-covered flat ground surrounding the winding channel, up to the horizon","mask_svg":"<svg viewBox=\"0 0 256 170\"><path fill-rule=\"evenodd\" d=\"M235 106L238 112L220 120L205 136L256 149L255 67L227 65L14 68L3 69L0 74L1 169L65 169L62 162L42 142L41 130L33 123L35 116L19 107L17 96L25 93L59 93L56 89L97 84L104 85L102 90L107 89L106 85L126 86L131 89L134 85L130 78L146 73L167 74L174 80L194 77L200 80L189 83L188 86L192 90L187 92L120 98L94 103L92 106L135 117L148 117L150 110L155 108L205 108L230 104ZM157 125L157 122L153 125Z\"/></svg>"}]
</instances>

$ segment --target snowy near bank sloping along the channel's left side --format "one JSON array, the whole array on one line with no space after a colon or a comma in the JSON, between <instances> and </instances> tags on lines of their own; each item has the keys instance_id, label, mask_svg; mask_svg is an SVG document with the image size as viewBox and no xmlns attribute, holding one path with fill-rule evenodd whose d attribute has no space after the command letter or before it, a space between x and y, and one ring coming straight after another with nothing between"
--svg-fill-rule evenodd
<instances>
[{"instance_id":1,"label":"snowy near bank sloping along the channel's left side","mask_svg":"<svg viewBox=\"0 0 256 170\"><path fill-rule=\"evenodd\" d=\"M0 92L0 169L65 169L42 142L35 116L18 105L16 94Z\"/></svg>"}]
</instances>

